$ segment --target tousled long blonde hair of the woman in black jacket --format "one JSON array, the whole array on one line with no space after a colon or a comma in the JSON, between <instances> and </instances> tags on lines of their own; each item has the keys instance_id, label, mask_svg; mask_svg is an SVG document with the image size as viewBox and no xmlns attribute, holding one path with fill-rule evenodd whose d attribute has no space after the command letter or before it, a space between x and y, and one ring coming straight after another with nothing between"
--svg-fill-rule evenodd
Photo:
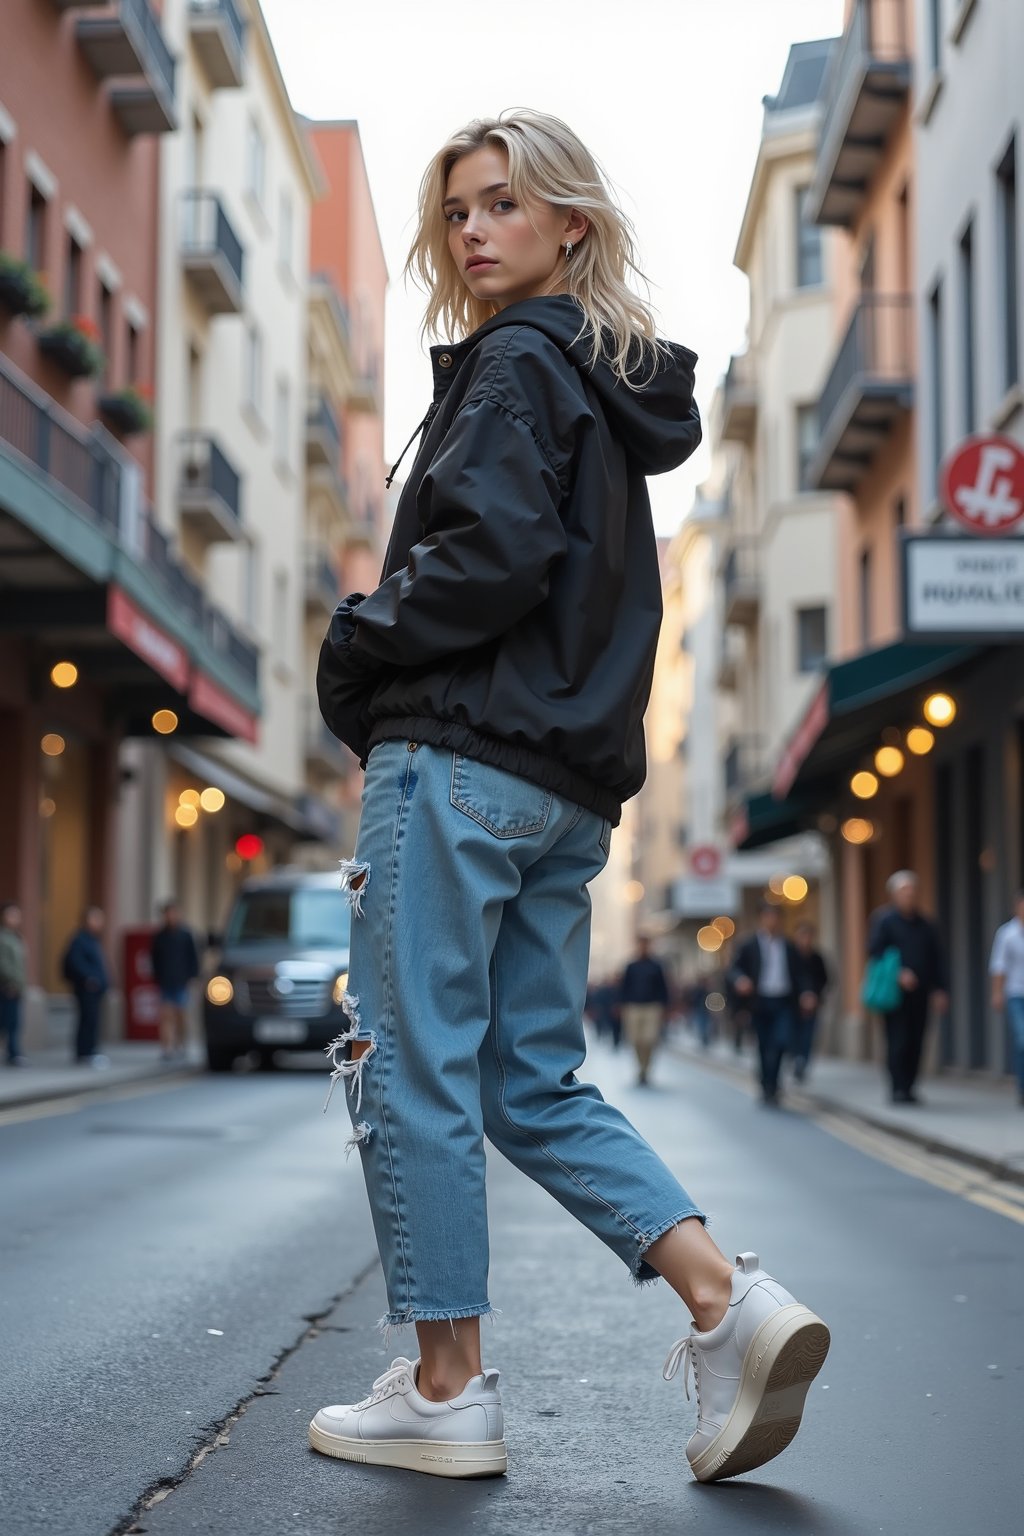
<instances>
[{"instance_id":1,"label":"tousled long blonde hair of the woman in black jacket","mask_svg":"<svg viewBox=\"0 0 1024 1536\"><path fill-rule=\"evenodd\" d=\"M508 189L517 201L577 207L590 220L557 292L570 293L580 306L583 319L576 339L588 335L591 366L605 355L622 381L636 386L640 362L646 359L649 372L657 369L660 344L649 304L626 284L628 272L646 281L636 260L633 223L582 140L547 112L508 111L467 123L427 166L419 184L419 227L405 261L405 273L427 293L424 332L441 339L468 336L496 313L462 281L442 210L456 160L485 146L507 152Z\"/></svg>"}]
</instances>

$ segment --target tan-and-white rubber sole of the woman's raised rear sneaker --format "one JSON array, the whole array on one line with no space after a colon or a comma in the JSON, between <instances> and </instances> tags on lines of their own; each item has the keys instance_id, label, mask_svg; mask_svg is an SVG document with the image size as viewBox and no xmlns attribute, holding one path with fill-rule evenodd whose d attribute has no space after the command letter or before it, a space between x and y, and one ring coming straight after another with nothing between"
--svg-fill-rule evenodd
<instances>
[{"instance_id":1,"label":"tan-and-white rubber sole of the woman's raised rear sneaker","mask_svg":"<svg viewBox=\"0 0 1024 1536\"><path fill-rule=\"evenodd\" d=\"M699 1482L752 1471L786 1450L800 1428L808 1389L824 1364L829 1342L821 1318L800 1304L781 1307L761 1322L743 1359L729 1418L689 1464Z\"/></svg>"}]
</instances>

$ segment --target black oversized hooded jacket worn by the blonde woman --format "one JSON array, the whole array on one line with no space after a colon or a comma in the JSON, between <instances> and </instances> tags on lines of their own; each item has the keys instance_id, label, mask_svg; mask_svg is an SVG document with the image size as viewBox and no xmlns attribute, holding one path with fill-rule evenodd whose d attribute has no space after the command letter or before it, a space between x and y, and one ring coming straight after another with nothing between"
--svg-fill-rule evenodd
<instances>
[{"instance_id":1,"label":"black oversized hooded jacket worn by the blonde woman","mask_svg":"<svg viewBox=\"0 0 1024 1536\"><path fill-rule=\"evenodd\" d=\"M662 621L645 476L700 442L695 356L672 346L631 390L586 364L580 323L553 295L431 347L381 585L338 607L316 687L364 763L378 742L428 742L617 823L646 773Z\"/></svg>"}]
</instances>

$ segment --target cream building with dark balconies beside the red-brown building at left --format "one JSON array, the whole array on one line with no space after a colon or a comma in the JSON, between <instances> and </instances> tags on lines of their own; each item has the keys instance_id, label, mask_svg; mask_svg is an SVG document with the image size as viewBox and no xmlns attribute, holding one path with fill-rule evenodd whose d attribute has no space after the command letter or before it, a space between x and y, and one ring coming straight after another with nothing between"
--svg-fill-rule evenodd
<instances>
[{"instance_id":1,"label":"cream building with dark balconies beside the red-brown building at left","mask_svg":"<svg viewBox=\"0 0 1024 1536\"><path fill-rule=\"evenodd\" d=\"M155 522L249 637L258 685L249 708L213 700L220 737L124 748L121 816L138 836L123 839L120 915L144 922L175 892L216 926L244 868L335 829L306 780L309 232L324 183L256 0L167 0L163 26L181 127L161 144ZM180 816L207 786L224 806ZM241 834L264 845L247 866Z\"/></svg>"}]
</instances>

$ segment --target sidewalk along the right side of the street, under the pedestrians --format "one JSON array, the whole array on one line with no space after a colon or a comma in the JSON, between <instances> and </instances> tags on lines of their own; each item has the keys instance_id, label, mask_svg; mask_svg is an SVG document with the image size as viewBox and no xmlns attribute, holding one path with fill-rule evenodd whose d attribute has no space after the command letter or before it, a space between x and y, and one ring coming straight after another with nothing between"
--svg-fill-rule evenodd
<instances>
[{"instance_id":1,"label":"sidewalk along the right side of the street, under the pedestrians","mask_svg":"<svg viewBox=\"0 0 1024 1536\"><path fill-rule=\"evenodd\" d=\"M755 1055L749 1046L742 1055L728 1041L705 1051L689 1031L677 1031L669 1040L679 1055L754 1086ZM1024 1184L1024 1107L1013 1083L949 1074L924 1078L920 1094L920 1104L890 1104L884 1072L870 1061L818 1057L801 1084L783 1066L783 1101L792 1109L852 1115L930 1152Z\"/></svg>"}]
</instances>

